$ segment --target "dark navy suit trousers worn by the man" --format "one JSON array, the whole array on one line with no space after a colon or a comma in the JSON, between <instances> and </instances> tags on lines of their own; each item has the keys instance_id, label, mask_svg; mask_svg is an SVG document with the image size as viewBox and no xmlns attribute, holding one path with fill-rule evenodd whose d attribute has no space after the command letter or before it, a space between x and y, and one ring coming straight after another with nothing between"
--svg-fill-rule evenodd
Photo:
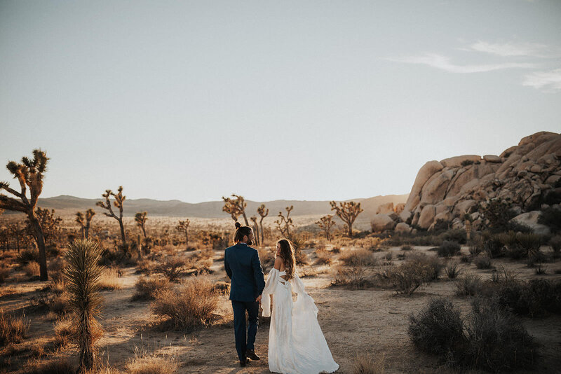
<instances>
[{"instance_id":1,"label":"dark navy suit trousers worn by the man","mask_svg":"<svg viewBox=\"0 0 561 374\"><path fill-rule=\"evenodd\" d=\"M255 335L259 324L259 303L257 301L232 301L234 310L234 334L236 335L236 351L240 361L245 360L245 351L255 349ZM249 327L245 331L245 311L248 312ZM247 333L247 339L246 337Z\"/></svg>"}]
</instances>

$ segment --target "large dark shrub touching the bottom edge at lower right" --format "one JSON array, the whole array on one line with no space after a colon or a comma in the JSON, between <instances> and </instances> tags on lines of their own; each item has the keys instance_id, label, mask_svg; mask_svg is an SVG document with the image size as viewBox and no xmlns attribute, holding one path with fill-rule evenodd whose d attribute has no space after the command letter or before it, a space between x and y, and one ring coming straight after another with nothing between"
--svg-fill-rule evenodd
<instances>
[{"instance_id":1,"label":"large dark shrub touching the bottom edge at lower right","mask_svg":"<svg viewBox=\"0 0 561 374\"><path fill-rule=\"evenodd\" d=\"M536 343L511 313L496 305L474 303L466 324L466 363L489 371L529 368L536 359Z\"/></svg>"}]
</instances>

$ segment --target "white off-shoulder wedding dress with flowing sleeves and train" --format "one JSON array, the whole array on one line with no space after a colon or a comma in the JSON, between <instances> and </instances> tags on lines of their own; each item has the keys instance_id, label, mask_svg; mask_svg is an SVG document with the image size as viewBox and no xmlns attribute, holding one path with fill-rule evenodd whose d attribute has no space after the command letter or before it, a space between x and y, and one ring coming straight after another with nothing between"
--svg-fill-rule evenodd
<instances>
[{"instance_id":1,"label":"white off-shoulder wedding dress with flowing sleeves and train","mask_svg":"<svg viewBox=\"0 0 561 374\"><path fill-rule=\"evenodd\" d=\"M261 300L263 317L269 317L273 295L269 370L282 374L333 373L339 365L333 361L318 324L318 307L296 273L288 282L281 275L286 272L275 268L269 272ZM294 303L292 291L298 295Z\"/></svg>"}]
</instances>

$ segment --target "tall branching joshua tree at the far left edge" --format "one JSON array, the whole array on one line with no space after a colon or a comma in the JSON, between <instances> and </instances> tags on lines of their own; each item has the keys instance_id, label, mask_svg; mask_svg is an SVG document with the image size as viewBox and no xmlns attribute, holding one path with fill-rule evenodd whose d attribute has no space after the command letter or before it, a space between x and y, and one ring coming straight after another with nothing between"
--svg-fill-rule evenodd
<instances>
[{"instance_id":1,"label":"tall branching joshua tree at the far left edge","mask_svg":"<svg viewBox=\"0 0 561 374\"><path fill-rule=\"evenodd\" d=\"M43 229L41 223L37 219L35 208L37 199L43 191L43 173L47 169L48 157L44 151L34 149L33 160L22 158L22 163L18 164L14 161L8 162L6 167L20 182L21 191L15 191L10 188L9 183L0 182L0 191L4 190L11 193L16 198L10 198L0 193L0 209L8 209L15 212L27 214L29 223L33 229L33 236L37 247L39 248L39 270L41 281L48 280L47 275L47 255L45 250L45 238L43 237ZM29 198L27 198L27 188L29 188Z\"/></svg>"}]
</instances>

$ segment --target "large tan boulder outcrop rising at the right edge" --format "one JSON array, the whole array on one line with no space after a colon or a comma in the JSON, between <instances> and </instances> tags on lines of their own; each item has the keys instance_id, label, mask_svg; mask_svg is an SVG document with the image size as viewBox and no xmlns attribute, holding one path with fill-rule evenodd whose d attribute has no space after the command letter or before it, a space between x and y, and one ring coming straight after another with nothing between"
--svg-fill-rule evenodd
<instances>
[{"instance_id":1,"label":"large tan boulder outcrop rising at the right edge","mask_svg":"<svg viewBox=\"0 0 561 374\"><path fill-rule=\"evenodd\" d=\"M561 134L537 132L501 155L426 162L397 221L430 230L439 219L461 227L470 218L477 228L485 224L481 210L491 199L508 199L522 214L543 209L550 193L561 195ZM542 229L532 221L535 214L516 219Z\"/></svg>"}]
</instances>

